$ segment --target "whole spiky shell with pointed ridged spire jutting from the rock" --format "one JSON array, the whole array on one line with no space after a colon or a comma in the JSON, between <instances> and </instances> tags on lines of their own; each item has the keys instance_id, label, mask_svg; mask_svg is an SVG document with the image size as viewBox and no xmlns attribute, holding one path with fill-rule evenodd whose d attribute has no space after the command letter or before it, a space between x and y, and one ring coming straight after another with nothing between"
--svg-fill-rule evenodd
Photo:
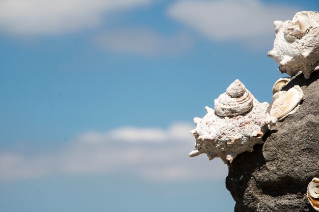
<instances>
[{"instance_id":1,"label":"whole spiky shell with pointed ridged spire jutting from the rock","mask_svg":"<svg viewBox=\"0 0 319 212\"><path fill-rule=\"evenodd\" d=\"M222 112L226 111L228 116L224 116L225 113L220 115L216 107L223 105L219 109L225 108L226 100L231 102L232 108L235 109L230 110L226 107ZM241 108L243 105L244 110ZM277 121L276 117L267 112L268 107L267 102L259 103L243 83L235 80L226 93L215 100L215 109L206 106L207 114L203 118L194 118L196 128L191 133L195 136L196 144L195 150L189 156L195 157L205 153L209 160L218 157L227 164L238 154L252 152L253 146L263 143L263 134Z\"/></svg>"}]
</instances>

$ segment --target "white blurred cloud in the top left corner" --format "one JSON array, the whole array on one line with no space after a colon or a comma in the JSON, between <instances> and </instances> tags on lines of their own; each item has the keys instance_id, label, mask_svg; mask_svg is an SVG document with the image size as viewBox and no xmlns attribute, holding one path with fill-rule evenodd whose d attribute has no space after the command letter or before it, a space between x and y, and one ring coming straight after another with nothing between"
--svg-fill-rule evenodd
<instances>
[{"instance_id":1,"label":"white blurred cloud in the top left corner","mask_svg":"<svg viewBox=\"0 0 319 212\"><path fill-rule=\"evenodd\" d=\"M52 35L99 24L105 14L151 0L2 0L0 30L18 35Z\"/></svg>"}]
</instances>

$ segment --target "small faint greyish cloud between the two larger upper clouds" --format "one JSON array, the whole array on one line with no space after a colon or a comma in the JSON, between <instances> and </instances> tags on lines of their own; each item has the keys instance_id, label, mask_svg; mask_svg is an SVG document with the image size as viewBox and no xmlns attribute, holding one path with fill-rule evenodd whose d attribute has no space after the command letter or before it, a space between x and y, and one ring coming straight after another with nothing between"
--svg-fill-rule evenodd
<instances>
[{"instance_id":1,"label":"small faint greyish cloud between the two larger upper clouds","mask_svg":"<svg viewBox=\"0 0 319 212\"><path fill-rule=\"evenodd\" d=\"M124 29L95 36L94 42L111 52L137 53L144 56L179 54L191 47L191 38L179 33L159 35L149 29Z\"/></svg>"}]
</instances>

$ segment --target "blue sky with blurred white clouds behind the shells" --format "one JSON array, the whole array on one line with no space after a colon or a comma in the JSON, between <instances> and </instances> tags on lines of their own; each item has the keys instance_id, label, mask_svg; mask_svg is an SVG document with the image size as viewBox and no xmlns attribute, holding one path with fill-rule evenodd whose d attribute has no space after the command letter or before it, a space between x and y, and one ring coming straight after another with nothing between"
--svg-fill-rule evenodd
<instances>
[{"instance_id":1,"label":"blue sky with blurred white clouds behind the shells","mask_svg":"<svg viewBox=\"0 0 319 212\"><path fill-rule=\"evenodd\" d=\"M233 211L194 117L281 74L275 20L317 0L2 0L0 210Z\"/></svg>"}]
</instances>

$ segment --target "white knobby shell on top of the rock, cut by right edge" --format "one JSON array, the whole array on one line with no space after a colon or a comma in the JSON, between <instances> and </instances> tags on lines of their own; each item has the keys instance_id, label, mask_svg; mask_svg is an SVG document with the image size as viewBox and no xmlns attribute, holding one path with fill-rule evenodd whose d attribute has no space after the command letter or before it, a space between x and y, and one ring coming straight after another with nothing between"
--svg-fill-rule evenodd
<instances>
[{"instance_id":1,"label":"white knobby shell on top of the rock, cut by right edge","mask_svg":"<svg viewBox=\"0 0 319 212\"><path fill-rule=\"evenodd\" d=\"M290 76L302 71L309 79L319 65L319 13L296 13L292 21L275 21L274 48L268 56L280 65L279 70Z\"/></svg>"}]
</instances>

